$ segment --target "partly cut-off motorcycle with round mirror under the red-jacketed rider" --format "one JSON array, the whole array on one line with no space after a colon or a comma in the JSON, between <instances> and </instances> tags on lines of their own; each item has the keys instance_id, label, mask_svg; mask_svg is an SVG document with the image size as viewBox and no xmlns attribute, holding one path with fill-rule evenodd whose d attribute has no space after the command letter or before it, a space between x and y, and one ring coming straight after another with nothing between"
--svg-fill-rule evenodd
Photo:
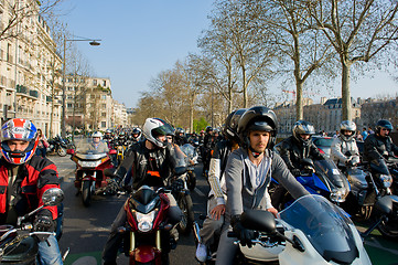
<instances>
[{"instance_id":1,"label":"partly cut-off motorcycle with round mirror under the red-jacketed rider","mask_svg":"<svg viewBox=\"0 0 398 265\"><path fill-rule=\"evenodd\" d=\"M34 211L19 216L17 225L0 225L0 264L35 264L39 251L35 236L55 235L55 232L32 231L31 216L43 206L54 206L64 199L64 193L58 188L46 190L42 195L43 205ZM65 259L68 252L63 256Z\"/></svg>"}]
</instances>

